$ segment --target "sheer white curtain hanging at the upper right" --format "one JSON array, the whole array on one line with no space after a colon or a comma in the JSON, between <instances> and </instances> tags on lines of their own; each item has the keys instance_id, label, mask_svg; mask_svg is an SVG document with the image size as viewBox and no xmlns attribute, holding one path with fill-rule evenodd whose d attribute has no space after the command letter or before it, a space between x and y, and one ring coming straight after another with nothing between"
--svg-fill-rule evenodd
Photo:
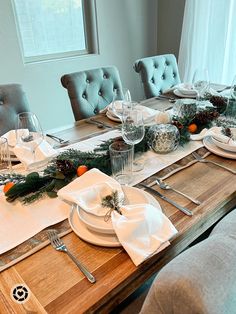
<instances>
[{"instance_id":1,"label":"sheer white curtain hanging at the upper right","mask_svg":"<svg viewBox=\"0 0 236 314\"><path fill-rule=\"evenodd\" d=\"M191 82L197 67L211 82L231 84L236 74L236 0L186 0L179 72Z\"/></svg>"}]
</instances>

